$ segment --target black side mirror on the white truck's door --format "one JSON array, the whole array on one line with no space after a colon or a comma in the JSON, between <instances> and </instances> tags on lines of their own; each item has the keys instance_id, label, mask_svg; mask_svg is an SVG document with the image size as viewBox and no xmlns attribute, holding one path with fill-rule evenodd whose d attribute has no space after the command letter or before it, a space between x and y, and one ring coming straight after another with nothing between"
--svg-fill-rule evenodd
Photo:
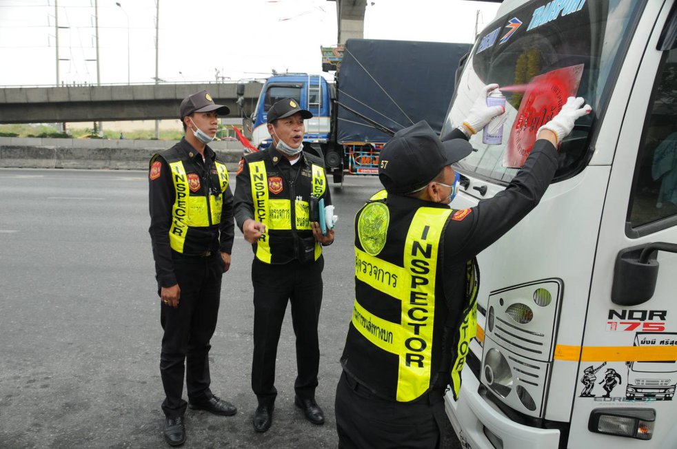
<instances>
[{"instance_id":1,"label":"black side mirror on the white truck's door","mask_svg":"<svg viewBox=\"0 0 677 449\"><path fill-rule=\"evenodd\" d=\"M658 251L677 253L677 244L656 242L622 249L616 257L612 302L637 306L654 296L658 278Z\"/></svg>"}]
</instances>

